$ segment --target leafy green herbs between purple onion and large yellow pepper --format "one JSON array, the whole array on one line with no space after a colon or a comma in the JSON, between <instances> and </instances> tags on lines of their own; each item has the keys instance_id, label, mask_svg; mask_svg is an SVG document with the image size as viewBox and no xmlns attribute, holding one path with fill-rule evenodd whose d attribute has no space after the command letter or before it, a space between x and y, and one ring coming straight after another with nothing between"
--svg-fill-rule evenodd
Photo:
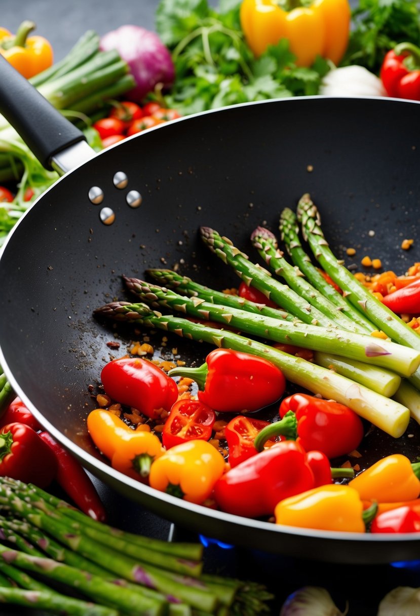
<instances>
[{"instance_id":1,"label":"leafy green herbs between purple onion and large yellow pepper","mask_svg":"<svg viewBox=\"0 0 420 616\"><path fill-rule=\"evenodd\" d=\"M296 67L282 39L256 59L244 41L240 0L161 0L156 31L171 50L176 80L164 104L182 115L254 100L317 94L329 70L317 59L311 68Z\"/></svg>"}]
</instances>

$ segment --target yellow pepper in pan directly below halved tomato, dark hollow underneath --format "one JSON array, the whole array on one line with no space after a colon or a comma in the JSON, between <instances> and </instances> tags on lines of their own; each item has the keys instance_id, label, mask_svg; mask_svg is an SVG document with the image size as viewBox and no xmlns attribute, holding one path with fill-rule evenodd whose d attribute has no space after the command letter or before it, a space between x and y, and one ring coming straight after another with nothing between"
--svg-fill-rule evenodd
<instances>
[{"instance_id":1,"label":"yellow pepper in pan directly below halved tomato, dark hollow underneath","mask_svg":"<svg viewBox=\"0 0 420 616\"><path fill-rule=\"evenodd\" d=\"M225 461L216 447L201 439L174 445L151 464L152 488L201 505L225 470Z\"/></svg>"}]
</instances>

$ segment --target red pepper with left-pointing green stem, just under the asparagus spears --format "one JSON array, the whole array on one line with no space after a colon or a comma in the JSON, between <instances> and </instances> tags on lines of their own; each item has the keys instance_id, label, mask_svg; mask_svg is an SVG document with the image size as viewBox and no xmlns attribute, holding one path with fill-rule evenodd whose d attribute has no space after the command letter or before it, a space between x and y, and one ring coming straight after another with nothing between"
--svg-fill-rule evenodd
<instances>
[{"instance_id":1,"label":"red pepper with left-pointing green stem, just under the asparagus spears","mask_svg":"<svg viewBox=\"0 0 420 616\"><path fill-rule=\"evenodd\" d=\"M286 379L269 360L233 349L215 349L198 368L174 368L169 375L188 376L198 384L198 399L219 412L244 413L276 402Z\"/></svg>"}]
</instances>

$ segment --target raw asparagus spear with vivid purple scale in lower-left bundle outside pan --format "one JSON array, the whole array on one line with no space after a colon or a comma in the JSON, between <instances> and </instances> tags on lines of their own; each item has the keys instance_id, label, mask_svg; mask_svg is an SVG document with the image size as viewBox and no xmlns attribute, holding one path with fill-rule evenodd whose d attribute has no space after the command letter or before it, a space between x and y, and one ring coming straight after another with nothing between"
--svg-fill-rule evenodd
<instances>
[{"instance_id":1,"label":"raw asparagus spear with vivid purple scale in lower-left bundle outside pan","mask_svg":"<svg viewBox=\"0 0 420 616\"><path fill-rule=\"evenodd\" d=\"M176 596L180 601L200 607L212 612L218 602L216 595L212 594L200 580L186 575L177 575L169 571L162 571L166 566L166 556L160 559L160 567L147 564L140 559L126 556L117 549L106 545L99 545L84 533L86 529L79 525L68 524L63 516L54 513L48 514L38 509L34 512L23 498L18 498L14 492L10 498L11 490L2 485L0 488L0 504L9 506L10 510L21 517L25 517L31 524L45 530L49 535L60 541L73 551L101 565L108 571L115 573L130 582L139 583L158 590L164 594Z\"/></svg>"}]
</instances>

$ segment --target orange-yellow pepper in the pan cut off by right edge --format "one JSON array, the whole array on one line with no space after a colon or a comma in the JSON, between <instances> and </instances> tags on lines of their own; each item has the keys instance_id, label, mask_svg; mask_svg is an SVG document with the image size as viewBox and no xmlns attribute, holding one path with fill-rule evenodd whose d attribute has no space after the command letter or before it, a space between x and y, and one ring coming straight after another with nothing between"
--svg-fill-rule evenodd
<instances>
[{"instance_id":1,"label":"orange-yellow pepper in the pan cut off by right edge","mask_svg":"<svg viewBox=\"0 0 420 616\"><path fill-rule=\"evenodd\" d=\"M360 472L349 485L362 500L378 503L410 501L420 496L420 463L411 464L409 458L394 453Z\"/></svg>"}]
</instances>

